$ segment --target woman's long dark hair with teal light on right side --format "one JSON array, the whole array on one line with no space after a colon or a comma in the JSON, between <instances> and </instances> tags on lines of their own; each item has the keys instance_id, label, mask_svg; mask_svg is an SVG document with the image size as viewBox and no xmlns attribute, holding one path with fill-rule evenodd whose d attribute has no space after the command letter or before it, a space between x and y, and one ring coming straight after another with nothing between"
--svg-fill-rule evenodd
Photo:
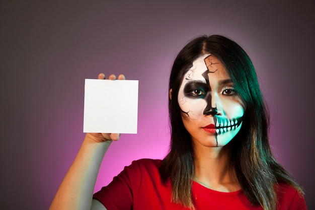
<instances>
[{"instance_id":1,"label":"woman's long dark hair with teal light on right side","mask_svg":"<svg viewBox=\"0 0 315 210\"><path fill-rule=\"evenodd\" d=\"M302 189L272 155L268 141L269 114L251 59L240 45L220 35L193 39L179 52L173 63L169 81L174 99L169 99L171 145L169 154L161 163L162 181L171 181L174 202L193 208L193 146L182 121L177 97L192 62L207 53L222 62L246 107L241 130L229 143L230 164L251 203L261 205L265 210L274 210L277 204L275 184L287 183L300 192Z\"/></svg>"}]
</instances>

